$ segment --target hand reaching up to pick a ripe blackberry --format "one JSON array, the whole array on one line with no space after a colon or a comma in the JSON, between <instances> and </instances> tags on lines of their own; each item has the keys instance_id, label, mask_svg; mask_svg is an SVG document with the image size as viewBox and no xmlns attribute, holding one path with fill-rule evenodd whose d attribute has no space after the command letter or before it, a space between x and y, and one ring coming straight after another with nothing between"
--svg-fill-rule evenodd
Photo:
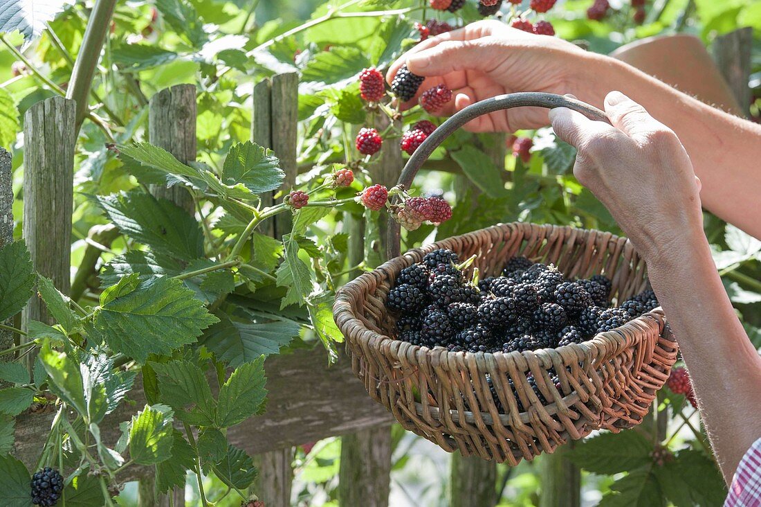
<instances>
[{"instance_id":1,"label":"hand reaching up to pick a ripe blackberry","mask_svg":"<svg viewBox=\"0 0 761 507\"><path fill-rule=\"evenodd\" d=\"M579 95L578 69L596 56L557 37L534 35L507 27L500 21L478 21L419 43L396 60L387 73L390 83L404 63L417 75L425 76L419 94L444 83L454 91L454 104L442 115L514 91L546 91ZM574 73L576 75L574 75ZM412 107L418 95L402 104ZM476 118L467 125L474 132L514 132L548 124L547 111L521 107Z\"/></svg>"}]
</instances>

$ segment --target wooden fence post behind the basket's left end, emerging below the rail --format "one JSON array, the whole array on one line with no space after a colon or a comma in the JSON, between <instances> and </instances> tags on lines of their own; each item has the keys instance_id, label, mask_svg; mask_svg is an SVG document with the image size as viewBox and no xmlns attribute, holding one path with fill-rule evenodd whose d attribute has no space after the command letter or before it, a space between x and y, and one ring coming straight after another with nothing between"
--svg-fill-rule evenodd
<instances>
[{"instance_id":1,"label":"wooden fence post behind the basket's left end, emerging below the rail","mask_svg":"<svg viewBox=\"0 0 761 507\"><path fill-rule=\"evenodd\" d=\"M382 131L390 124L385 115L377 115L374 127ZM403 168L402 150L396 141L387 141L381 146L380 163L372 168L373 183L387 188L396 185ZM387 217L381 213L377 219L380 236L380 258L386 258ZM364 258L366 245L361 239L365 223L349 220L348 229L352 244L349 250L349 264L356 265ZM358 234L361 233L361 234ZM357 237L354 237L357 234ZM353 263L353 264L352 264ZM339 505L365 505L383 507L388 505L391 473L391 430L387 425L368 428L346 435L341 439L341 463L339 469Z\"/></svg>"}]
</instances>

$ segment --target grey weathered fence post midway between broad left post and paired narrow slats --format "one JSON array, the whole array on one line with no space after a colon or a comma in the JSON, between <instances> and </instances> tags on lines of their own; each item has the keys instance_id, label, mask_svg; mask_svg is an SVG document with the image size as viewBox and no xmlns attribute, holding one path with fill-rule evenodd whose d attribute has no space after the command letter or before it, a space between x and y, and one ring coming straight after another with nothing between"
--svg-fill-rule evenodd
<instances>
[{"instance_id":1,"label":"grey weathered fence post midway between broad left post and paired narrow slats","mask_svg":"<svg viewBox=\"0 0 761 507\"><path fill-rule=\"evenodd\" d=\"M195 162L197 111L195 85L175 85L159 91L148 101L148 141L166 149L180 162ZM150 190L154 197L172 201L188 213L195 214L193 197L181 185L151 185ZM165 495L158 495L155 477L144 477L140 480L139 505L185 505L185 489L177 488Z\"/></svg>"}]
</instances>

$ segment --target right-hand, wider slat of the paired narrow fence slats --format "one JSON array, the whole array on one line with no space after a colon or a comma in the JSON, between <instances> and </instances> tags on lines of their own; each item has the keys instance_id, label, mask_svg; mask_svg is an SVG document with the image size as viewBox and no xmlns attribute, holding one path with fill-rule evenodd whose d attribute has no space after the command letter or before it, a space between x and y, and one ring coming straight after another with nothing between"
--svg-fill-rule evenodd
<instances>
[{"instance_id":1,"label":"right-hand, wider slat of the paired narrow fence slats","mask_svg":"<svg viewBox=\"0 0 761 507\"><path fill-rule=\"evenodd\" d=\"M288 72L272 76L272 151L280 159L285 172L282 190L288 191L295 182L298 166L298 74ZM291 215L275 217L275 237L291 232Z\"/></svg>"}]
</instances>

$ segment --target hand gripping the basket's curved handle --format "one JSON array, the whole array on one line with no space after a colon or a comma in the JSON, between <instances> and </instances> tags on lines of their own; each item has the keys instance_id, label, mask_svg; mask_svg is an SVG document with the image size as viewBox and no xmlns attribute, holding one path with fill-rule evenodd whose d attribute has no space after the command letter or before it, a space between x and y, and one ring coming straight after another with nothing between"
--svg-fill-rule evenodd
<instances>
[{"instance_id":1,"label":"hand gripping the basket's curved handle","mask_svg":"<svg viewBox=\"0 0 761 507\"><path fill-rule=\"evenodd\" d=\"M619 91L605 98L611 127L560 107L552 127L578 149L574 175L610 210L635 249L662 264L706 243L700 180L673 133Z\"/></svg>"}]
</instances>

